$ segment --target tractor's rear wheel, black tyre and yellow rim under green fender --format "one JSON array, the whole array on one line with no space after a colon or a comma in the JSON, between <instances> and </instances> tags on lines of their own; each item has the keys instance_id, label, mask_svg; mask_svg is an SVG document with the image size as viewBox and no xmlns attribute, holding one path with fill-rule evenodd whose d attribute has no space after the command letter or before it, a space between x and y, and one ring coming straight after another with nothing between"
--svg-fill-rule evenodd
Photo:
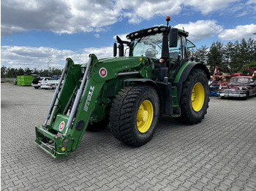
<instances>
[{"instance_id":1,"label":"tractor's rear wheel, black tyre and yellow rim under green fender","mask_svg":"<svg viewBox=\"0 0 256 191\"><path fill-rule=\"evenodd\" d=\"M209 101L206 73L201 69L192 69L182 85L181 116L176 117L176 120L191 125L201 122L207 113Z\"/></svg>"}]
</instances>

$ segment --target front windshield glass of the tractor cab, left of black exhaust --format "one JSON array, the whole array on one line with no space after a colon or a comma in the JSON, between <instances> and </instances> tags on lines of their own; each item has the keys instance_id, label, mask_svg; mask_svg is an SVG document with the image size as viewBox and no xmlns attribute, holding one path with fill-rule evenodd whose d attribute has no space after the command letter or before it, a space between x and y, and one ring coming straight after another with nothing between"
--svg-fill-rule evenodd
<instances>
[{"instance_id":1,"label":"front windshield glass of the tractor cab, left of black exhaust","mask_svg":"<svg viewBox=\"0 0 256 191\"><path fill-rule=\"evenodd\" d=\"M148 58L161 58L162 34L143 36L131 42L133 56L146 56Z\"/></svg>"}]
</instances>

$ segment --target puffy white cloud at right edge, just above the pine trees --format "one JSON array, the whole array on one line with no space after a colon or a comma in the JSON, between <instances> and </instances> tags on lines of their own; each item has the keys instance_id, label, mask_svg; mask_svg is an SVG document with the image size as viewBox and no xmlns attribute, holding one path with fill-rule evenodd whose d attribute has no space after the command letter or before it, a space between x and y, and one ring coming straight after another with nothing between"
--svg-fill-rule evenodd
<instances>
[{"instance_id":1,"label":"puffy white cloud at right edge, just above the pine trees","mask_svg":"<svg viewBox=\"0 0 256 191\"><path fill-rule=\"evenodd\" d=\"M241 40L254 37L256 33L256 25L250 24L245 26L236 26L234 29L226 29L219 34L219 39L222 40Z\"/></svg>"}]
</instances>

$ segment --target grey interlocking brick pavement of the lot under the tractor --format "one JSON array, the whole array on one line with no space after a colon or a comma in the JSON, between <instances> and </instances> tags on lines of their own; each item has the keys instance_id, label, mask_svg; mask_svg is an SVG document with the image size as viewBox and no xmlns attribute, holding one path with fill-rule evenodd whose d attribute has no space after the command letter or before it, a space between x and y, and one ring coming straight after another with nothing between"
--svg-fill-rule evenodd
<instances>
[{"instance_id":1,"label":"grey interlocking brick pavement of the lot under the tractor","mask_svg":"<svg viewBox=\"0 0 256 191\"><path fill-rule=\"evenodd\" d=\"M256 190L256 97L211 97L197 125L160 117L140 148L87 132L54 160L34 144L53 92L1 85L1 190Z\"/></svg>"}]
</instances>

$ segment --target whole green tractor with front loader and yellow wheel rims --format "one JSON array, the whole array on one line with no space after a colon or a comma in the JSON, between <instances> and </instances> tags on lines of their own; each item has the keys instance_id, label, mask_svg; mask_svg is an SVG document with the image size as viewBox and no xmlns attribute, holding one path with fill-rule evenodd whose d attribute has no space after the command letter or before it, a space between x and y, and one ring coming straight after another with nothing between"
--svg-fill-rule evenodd
<instances>
[{"instance_id":1,"label":"whole green tractor with front loader and yellow wheel rims","mask_svg":"<svg viewBox=\"0 0 256 191\"><path fill-rule=\"evenodd\" d=\"M169 20L167 26L128 34L128 41L116 36L114 58L91 54L83 65L67 58L45 124L36 127L39 147L65 157L78 149L86 129L108 124L118 141L140 147L150 141L160 114L201 122L210 74L202 63L189 61L187 50L195 45L186 31L168 26Z\"/></svg>"}]
</instances>

